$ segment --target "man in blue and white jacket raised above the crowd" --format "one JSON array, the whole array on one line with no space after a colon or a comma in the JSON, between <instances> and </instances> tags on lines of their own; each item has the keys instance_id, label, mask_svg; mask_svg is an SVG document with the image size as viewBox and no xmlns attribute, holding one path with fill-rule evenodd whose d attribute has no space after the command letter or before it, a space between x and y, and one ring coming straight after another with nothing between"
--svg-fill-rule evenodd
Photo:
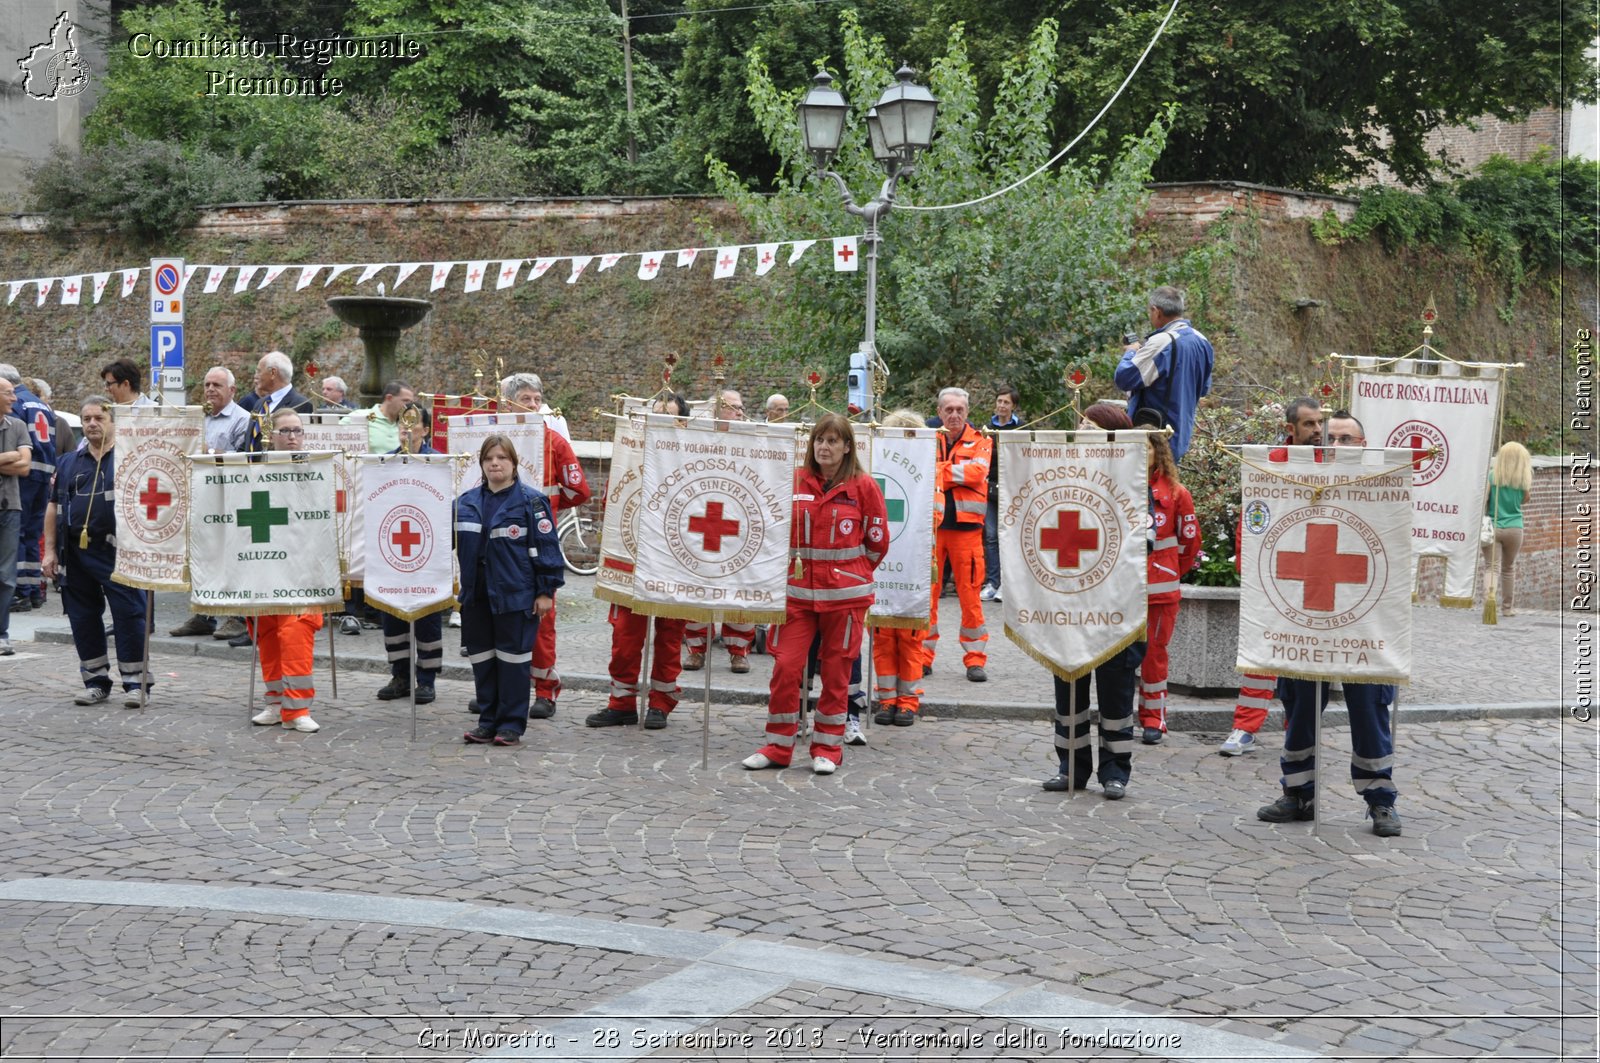
<instances>
[{"instance_id":1,"label":"man in blue and white jacket raised above the crowd","mask_svg":"<svg viewBox=\"0 0 1600 1063\"><path fill-rule=\"evenodd\" d=\"M1173 427L1173 458L1182 461L1195 429L1195 410L1211 391L1211 341L1184 317L1184 293L1162 285L1150 293L1150 327L1142 344L1123 347L1117 387L1128 392L1128 416L1155 410Z\"/></svg>"}]
</instances>

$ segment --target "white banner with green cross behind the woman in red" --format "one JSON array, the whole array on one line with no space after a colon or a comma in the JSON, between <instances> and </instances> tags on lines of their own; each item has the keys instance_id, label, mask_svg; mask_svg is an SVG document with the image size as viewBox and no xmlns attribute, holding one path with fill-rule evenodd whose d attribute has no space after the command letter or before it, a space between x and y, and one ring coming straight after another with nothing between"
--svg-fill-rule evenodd
<instances>
[{"instance_id":1,"label":"white banner with green cross behind the woman in red","mask_svg":"<svg viewBox=\"0 0 1600 1063\"><path fill-rule=\"evenodd\" d=\"M933 600L934 429L880 427L859 453L883 491L890 549L877 572L877 600L867 623L926 628ZM877 528L874 528L877 532Z\"/></svg>"}]
</instances>

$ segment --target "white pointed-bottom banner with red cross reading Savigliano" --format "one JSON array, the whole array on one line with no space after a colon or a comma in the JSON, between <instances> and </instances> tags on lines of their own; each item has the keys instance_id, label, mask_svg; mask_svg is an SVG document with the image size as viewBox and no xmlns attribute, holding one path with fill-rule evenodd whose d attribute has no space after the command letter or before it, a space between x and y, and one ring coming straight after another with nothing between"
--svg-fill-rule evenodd
<instances>
[{"instance_id":1,"label":"white pointed-bottom banner with red cross reading Savigliano","mask_svg":"<svg viewBox=\"0 0 1600 1063\"><path fill-rule=\"evenodd\" d=\"M1005 634L1061 679L1144 637L1144 432L997 432Z\"/></svg>"}]
</instances>

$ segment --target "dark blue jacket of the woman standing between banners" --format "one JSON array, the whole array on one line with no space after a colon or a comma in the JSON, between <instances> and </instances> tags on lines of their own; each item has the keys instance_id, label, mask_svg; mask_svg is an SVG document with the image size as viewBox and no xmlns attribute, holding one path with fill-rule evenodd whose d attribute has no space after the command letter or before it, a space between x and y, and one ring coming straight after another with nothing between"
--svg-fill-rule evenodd
<instances>
[{"instance_id":1,"label":"dark blue jacket of the woman standing between banners","mask_svg":"<svg viewBox=\"0 0 1600 1063\"><path fill-rule=\"evenodd\" d=\"M490 612L533 612L533 599L555 594L565 583L550 499L515 480L510 495L494 514L493 525L483 527L488 493L488 485L480 483L456 499L461 605L475 602L482 559L488 568L483 586L488 591Z\"/></svg>"}]
</instances>

